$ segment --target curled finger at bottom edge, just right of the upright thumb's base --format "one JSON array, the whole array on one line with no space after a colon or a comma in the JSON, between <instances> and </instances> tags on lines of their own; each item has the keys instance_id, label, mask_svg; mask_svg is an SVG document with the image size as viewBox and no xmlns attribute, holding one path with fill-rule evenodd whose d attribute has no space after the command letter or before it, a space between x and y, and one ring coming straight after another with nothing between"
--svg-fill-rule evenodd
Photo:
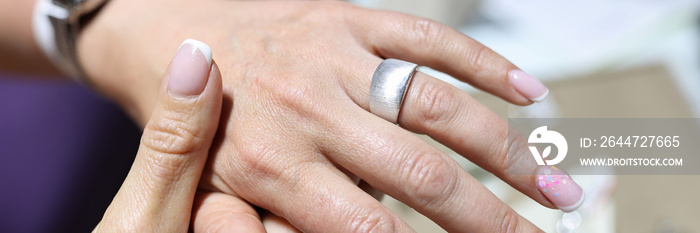
<instances>
[{"instance_id":1,"label":"curled finger at bottom edge, just right of the upright thumb's base","mask_svg":"<svg viewBox=\"0 0 700 233\"><path fill-rule=\"evenodd\" d=\"M260 216L247 202L218 192L198 192L192 211L194 232L265 232Z\"/></svg>"}]
</instances>

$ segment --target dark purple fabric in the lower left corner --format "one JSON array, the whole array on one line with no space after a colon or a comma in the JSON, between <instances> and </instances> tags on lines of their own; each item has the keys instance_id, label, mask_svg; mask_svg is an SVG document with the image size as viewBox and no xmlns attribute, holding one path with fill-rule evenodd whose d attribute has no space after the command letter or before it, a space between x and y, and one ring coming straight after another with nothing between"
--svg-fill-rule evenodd
<instances>
[{"instance_id":1,"label":"dark purple fabric in the lower left corner","mask_svg":"<svg viewBox=\"0 0 700 233\"><path fill-rule=\"evenodd\" d=\"M70 81L0 75L0 232L88 232L128 172L140 131Z\"/></svg>"}]
</instances>

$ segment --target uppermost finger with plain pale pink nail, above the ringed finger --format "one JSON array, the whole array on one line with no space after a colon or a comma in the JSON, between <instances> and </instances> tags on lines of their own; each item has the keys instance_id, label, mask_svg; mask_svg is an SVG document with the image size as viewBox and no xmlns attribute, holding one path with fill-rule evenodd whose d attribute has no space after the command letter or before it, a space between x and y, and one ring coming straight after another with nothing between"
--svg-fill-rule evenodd
<instances>
[{"instance_id":1,"label":"uppermost finger with plain pale pink nail, above the ringed finger","mask_svg":"<svg viewBox=\"0 0 700 233\"><path fill-rule=\"evenodd\" d=\"M549 93L501 55L448 26L397 12L359 12L354 34L380 57L435 68L513 104L539 102Z\"/></svg>"}]
</instances>

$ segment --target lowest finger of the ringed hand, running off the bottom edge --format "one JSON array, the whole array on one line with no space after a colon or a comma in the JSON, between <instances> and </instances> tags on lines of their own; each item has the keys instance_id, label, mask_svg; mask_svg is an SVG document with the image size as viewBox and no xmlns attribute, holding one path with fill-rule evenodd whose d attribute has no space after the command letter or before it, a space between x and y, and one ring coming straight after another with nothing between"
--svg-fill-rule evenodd
<instances>
[{"instance_id":1,"label":"lowest finger of the ringed hand, running off the bottom edge","mask_svg":"<svg viewBox=\"0 0 700 233\"><path fill-rule=\"evenodd\" d=\"M301 156L292 153L294 149L269 146L266 150L275 156L240 157L235 164L223 165L230 168L221 174L230 176L235 193L302 232L412 231L322 155ZM271 158L277 162L260 161Z\"/></svg>"}]
</instances>

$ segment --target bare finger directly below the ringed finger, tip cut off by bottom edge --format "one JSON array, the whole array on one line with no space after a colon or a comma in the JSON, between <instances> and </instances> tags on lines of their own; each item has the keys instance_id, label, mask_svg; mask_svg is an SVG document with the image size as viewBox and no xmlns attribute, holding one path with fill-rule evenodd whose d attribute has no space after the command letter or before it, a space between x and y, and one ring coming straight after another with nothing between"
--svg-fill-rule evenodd
<instances>
[{"instance_id":1,"label":"bare finger directly below the ringed finger, tip cut off by bottom edge","mask_svg":"<svg viewBox=\"0 0 700 233\"><path fill-rule=\"evenodd\" d=\"M448 232L538 230L456 161L362 109L339 115L328 131L338 142L322 148L335 151L333 161Z\"/></svg>"}]
</instances>

